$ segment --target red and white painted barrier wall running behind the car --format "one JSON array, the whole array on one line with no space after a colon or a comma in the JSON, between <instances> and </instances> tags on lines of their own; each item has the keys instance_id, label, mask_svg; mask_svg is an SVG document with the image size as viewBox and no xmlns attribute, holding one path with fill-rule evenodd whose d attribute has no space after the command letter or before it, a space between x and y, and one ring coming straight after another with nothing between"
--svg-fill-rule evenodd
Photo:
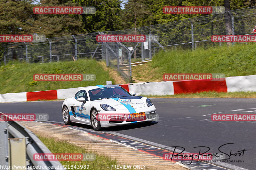
<instances>
[{"instance_id":1,"label":"red and white painted barrier wall running behind the car","mask_svg":"<svg viewBox=\"0 0 256 170\"><path fill-rule=\"evenodd\" d=\"M227 77L224 81L162 81L121 84L120 86L129 92L135 92L136 95L174 95L201 91L256 91L256 75ZM0 103L65 99L73 96L76 91L82 88L0 94Z\"/></svg>"}]
</instances>

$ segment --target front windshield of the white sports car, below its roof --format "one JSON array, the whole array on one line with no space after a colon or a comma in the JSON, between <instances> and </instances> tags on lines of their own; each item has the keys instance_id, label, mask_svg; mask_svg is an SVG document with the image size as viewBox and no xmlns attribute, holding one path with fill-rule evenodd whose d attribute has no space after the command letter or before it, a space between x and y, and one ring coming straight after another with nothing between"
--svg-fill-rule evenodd
<instances>
[{"instance_id":1,"label":"front windshield of the white sports car, below its roof","mask_svg":"<svg viewBox=\"0 0 256 170\"><path fill-rule=\"evenodd\" d=\"M125 97L125 96L132 96L132 95L122 87L104 87L104 88L89 90L89 96L91 101L93 101L93 100Z\"/></svg>"}]
</instances>

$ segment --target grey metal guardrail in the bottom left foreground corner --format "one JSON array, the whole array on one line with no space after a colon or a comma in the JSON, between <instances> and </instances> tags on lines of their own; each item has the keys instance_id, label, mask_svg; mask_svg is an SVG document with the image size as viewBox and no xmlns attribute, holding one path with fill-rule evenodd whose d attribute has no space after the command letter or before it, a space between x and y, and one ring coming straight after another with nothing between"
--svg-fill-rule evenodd
<instances>
[{"instance_id":1,"label":"grey metal guardrail in the bottom left foreground corner","mask_svg":"<svg viewBox=\"0 0 256 170\"><path fill-rule=\"evenodd\" d=\"M5 115L4 113L0 112L0 115L2 115L2 114ZM5 122L2 121L1 123L5 123ZM35 168L36 170L43 170L43 169L44 170L63 170L63 169L60 169L60 167L63 167L63 166L59 161L52 161L52 160L40 161L40 160L33 159L33 155L35 153L52 153L33 132L31 132L26 127L22 126L21 124L19 124L16 121L6 121L6 124L7 124L7 130L5 128L0 129L1 132L7 131L6 133L9 134L8 136L13 136L14 138L24 138L25 139L26 156L29 158L29 161L33 164L33 165L31 165L31 163L30 163L29 166L37 167L37 168ZM5 140L7 140L7 139L5 139ZM6 148L6 144L8 144L8 141L5 141L5 142L6 142L5 144L2 143L1 145L4 144L5 148ZM10 149L12 149L12 148L10 148ZM10 155L10 151L9 151L9 155ZM10 162L10 156L6 157L6 158L8 158L6 160L6 162L7 162L6 164L8 164L8 162ZM1 160L0 160L0 162L1 162ZM28 163L26 165L28 166ZM18 166L18 165L16 165L16 166ZM45 167L54 167L54 168L45 168Z\"/></svg>"}]
</instances>

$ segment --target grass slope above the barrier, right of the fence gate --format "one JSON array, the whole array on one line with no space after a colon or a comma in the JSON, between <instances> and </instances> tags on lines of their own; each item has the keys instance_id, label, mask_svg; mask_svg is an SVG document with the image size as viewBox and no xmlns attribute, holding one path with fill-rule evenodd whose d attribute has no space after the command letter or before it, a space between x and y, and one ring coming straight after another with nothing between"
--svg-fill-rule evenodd
<instances>
[{"instance_id":1,"label":"grass slope above the barrier, right of the fence gate","mask_svg":"<svg viewBox=\"0 0 256 170\"><path fill-rule=\"evenodd\" d=\"M256 74L256 44L217 46L196 51L159 52L151 62L132 67L138 81L163 81L164 73L224 73L226 77Z\"/></svg>"}]
</instances>

